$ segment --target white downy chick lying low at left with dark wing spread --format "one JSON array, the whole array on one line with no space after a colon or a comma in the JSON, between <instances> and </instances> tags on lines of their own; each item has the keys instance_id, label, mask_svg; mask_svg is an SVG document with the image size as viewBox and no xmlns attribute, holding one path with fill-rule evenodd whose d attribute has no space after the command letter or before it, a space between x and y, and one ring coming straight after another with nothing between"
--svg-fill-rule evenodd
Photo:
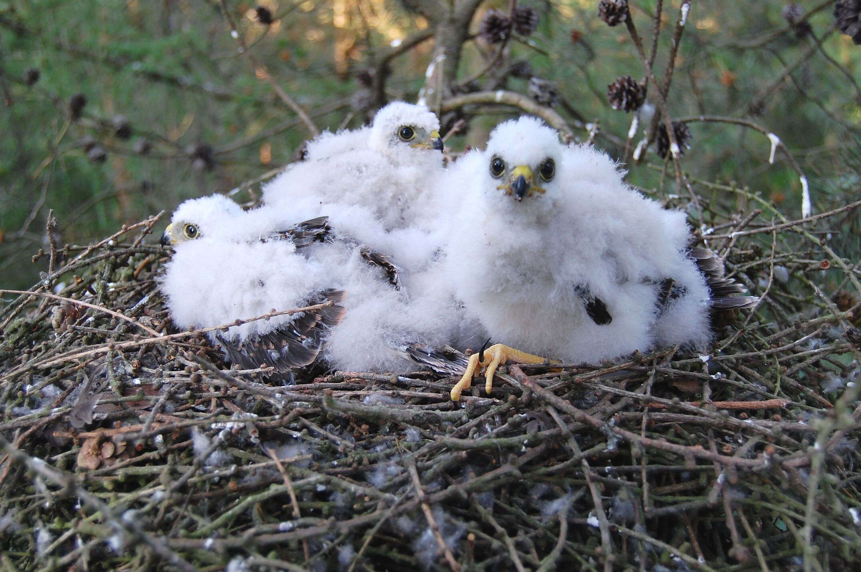
<instances>
[{"instance_id":1,"label":"white downy chick lying low at left with dark wing spread","mask_svg":"<svg viewBox=\"0 0 861 572\"><path fill-rule=\"evenodd\" d=\"M394 286L398 269L385 256L330 225L340 220L363 238L386 239L368 212L333 207L333 218L307 221L301 209L243 212L225 201L187 201L165 231L175 253L161 288L178 327L208 328L331 300L317 311L208 334L230 360L269 364L279 373L317 360L342 370L404 371L415 368L405 346L443 343L446 324L435 305L408 298Z\"/></svg>"}]
</instances>

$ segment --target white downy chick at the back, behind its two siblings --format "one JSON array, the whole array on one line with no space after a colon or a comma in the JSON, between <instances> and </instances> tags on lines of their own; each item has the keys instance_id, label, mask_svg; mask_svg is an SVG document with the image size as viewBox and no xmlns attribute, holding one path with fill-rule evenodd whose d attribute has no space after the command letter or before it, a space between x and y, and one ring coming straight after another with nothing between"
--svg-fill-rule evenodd
<instances>
[{"instance_id":1,"label":"white downy chick at the back, behind its two siblings","mask_svg":"<svg viewBox=\"0 0 861 572\"><path fill-rule=\"evenodd\" d=\"M430 227L433 186L443 169L439 120L427 108L394 101L373 125L324 134L263 188L263 202L290 211L297 203L362 206L387 230Z\"/></svg>"}]
</instances>

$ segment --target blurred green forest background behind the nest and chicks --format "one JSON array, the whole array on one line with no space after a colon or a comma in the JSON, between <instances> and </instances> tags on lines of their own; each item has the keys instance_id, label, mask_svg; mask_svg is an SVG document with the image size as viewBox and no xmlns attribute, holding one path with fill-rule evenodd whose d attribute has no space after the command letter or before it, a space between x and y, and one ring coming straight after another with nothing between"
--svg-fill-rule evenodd
<instances>
[{"instance_id":1,"label":"blurred green forest background behind the nest and chicks","mask_svg":"<svg viewBox=\"0 0 861 572\"><path fill-rule=\"evenodd\" d=\"M802 13L814 12L811 35L784 18L784 2L695 0L669 97L674 117L746 118L776 133L808 176L814 212L861 195L861 46L833 30L831 4L798 3ZM274 15L269 26L258 22L260 5ZM499 64L473 89L527 93L528 79L505 74L511 64L526 62L536 77L559 83L563 117L597 123L596 145L622 157L618 142L632 116L610 108L607 85L623 75L643 77L624 26L601 22L594 0L518 5L538 11L536 32L512 37ZM631 3L647 47L656 5ZM660 75L679 5L663 6ZM321 129L368 120L375 101L364 73L392 42L428 28L423 16L388 0L229 0L226 6L257 61ZM478 31L487 9L507 6L482 3L471 29ZM393 59L388 99L415 101L432 47L427 40ZM459 77L486 68L495 49L480 38L468 40ZM257 185L244 183L291 161L308 137L261 75L238 52L219 2L0 1L0 286L30 286L45 270L44 259L30 257L46 248L49 209L59 219L59 243L83 244L170 212L189 197L242 186L234 196L254 199ZM77 94L86 97L79 119L70 109ZM762 105L751 109L758 99ZM449 148L482 145L492 125L512 113L474 111ZM691 177L749 188L788 217L800 216L796 171L779 153L768 163L763 134L727 124L690 127L684 169ZM575 132L588 136L582 126ZM650 153L629 166L629 181L656 194L678 193L672 166L666 176L664 166ZM738 196L717 190L715 200ZM857 255L858 214L841 223L846 231L838 240L846 254Z\"/></svg>"}]
</instances>

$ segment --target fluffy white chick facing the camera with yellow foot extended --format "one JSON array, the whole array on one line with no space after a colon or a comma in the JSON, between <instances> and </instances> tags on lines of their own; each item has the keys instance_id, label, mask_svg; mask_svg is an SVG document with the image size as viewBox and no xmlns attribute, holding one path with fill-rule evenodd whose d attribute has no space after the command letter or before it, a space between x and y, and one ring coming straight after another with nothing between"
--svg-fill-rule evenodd
<instances>
[{"instance_id":1,"label":"fluffy white chick facing the camera with yellow foot extended","mask_svg":"<svg viewBox=\"0 0 861 572\"><path fill-rule=\"evenodd\" d=\"M447 177L460 208L446 275L493 341L595 363L709 340L709 289L686 251L684 213L635 193L609 157L522 117Z\"/></svg>"}]
</instances>

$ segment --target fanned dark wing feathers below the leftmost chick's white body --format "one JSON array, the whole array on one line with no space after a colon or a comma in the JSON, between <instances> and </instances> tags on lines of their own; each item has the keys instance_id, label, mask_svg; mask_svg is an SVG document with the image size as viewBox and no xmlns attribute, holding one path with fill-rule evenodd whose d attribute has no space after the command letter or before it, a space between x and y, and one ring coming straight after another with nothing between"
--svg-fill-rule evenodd
<instances>
[{"instance_id":1,"label":"fanned dark wing feathers below the leftmost chick's white body","mask_svg":"<svg viewBox=\"0 0 861 572\"><path fill-rule=\"evenodd\" d=\"M344 317L343 290L325 290L308 300L308 305L331 301L333 305L297 314L294 320L268 334L231 341L219 335L226 357L247 369L264 364L275 367L277 373L288 373L298 367L310 366L325 347L325 333Z\"/></svg>"}]
</instances>

